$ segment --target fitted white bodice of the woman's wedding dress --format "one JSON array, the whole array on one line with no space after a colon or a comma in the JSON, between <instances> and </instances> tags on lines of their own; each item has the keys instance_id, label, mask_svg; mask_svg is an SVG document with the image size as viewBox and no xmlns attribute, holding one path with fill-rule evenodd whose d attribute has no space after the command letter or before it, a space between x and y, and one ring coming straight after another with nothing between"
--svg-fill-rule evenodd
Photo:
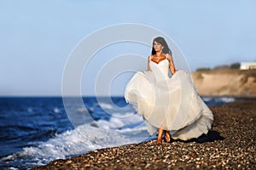
<instances>
[{"instance_id":1,"label":"fitted white bodice of the woman's wedding dress","mask_svg":"<svg viewBox=\"0 0 256 170\"><path fill-rule=\"evenodd\" d=\"M166 80L168 77L169 71L169 60L161 60L158 64L150 60L149 62L150 69L154 73L155 81L160 82Z\"/></svg>"}]
</instances>

